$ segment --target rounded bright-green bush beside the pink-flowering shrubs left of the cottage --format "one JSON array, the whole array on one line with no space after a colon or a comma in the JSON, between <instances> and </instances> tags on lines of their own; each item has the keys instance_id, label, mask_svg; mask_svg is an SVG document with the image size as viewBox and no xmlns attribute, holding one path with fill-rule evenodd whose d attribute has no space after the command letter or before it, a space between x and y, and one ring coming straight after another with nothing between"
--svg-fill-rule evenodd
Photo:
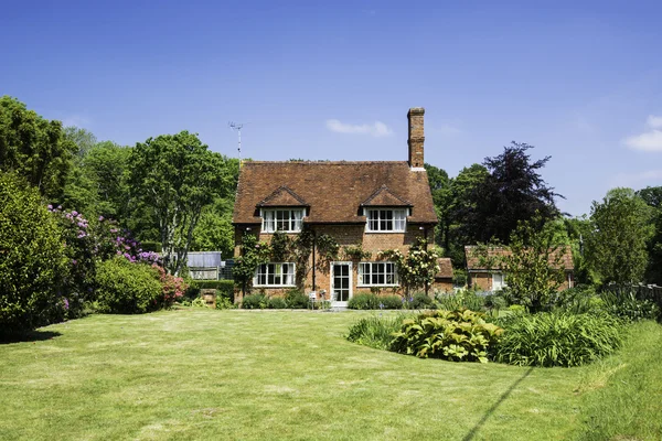
<instances>
[{"instance_id":1,"label":"rounded bright-green bush beside the pink-flowering shrubs left of the cottage","mask_svg":"<svg viewBox=\"0 0 662 441\"><path fill-rule=\"evenodd\" d=\"M159 271L147 263L131 263L118 256L100 262L95 279L99 312L140 314L164 303Z\"/></svg>"}]
</instances>

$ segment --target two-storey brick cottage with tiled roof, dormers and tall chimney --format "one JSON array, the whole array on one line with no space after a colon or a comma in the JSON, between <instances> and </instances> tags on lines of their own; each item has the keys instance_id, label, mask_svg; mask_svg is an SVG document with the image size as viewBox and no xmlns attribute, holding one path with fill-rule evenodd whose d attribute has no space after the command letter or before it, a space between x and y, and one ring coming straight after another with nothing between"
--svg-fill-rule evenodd
<instances>
[{"instance_id":1,"label":"two-storey brick cottage with tiled roof, dormers and tall chimney","mask_svg":"<svg viewBox=\"0 0 662 441\"><path fill-rule=\"evenodd\" d=\"M360 292L397 292L395 265L377 260L376 254L407 252L419 236L431 241L437 224L424 169L424 114L423 108L407 114L408 161L243 163L233 214L235 256L246 233L268 243L277 230L298 235L306 228L316 237L332 236L341 248L361 246L372 255L332 261L323 270L312 266L305 281L307 292L327 292L327 299L333 293L339 306ZM254 289L281 295L295 287L296 270L295 262L261 265Z\"/></svg>"}]
</instances>

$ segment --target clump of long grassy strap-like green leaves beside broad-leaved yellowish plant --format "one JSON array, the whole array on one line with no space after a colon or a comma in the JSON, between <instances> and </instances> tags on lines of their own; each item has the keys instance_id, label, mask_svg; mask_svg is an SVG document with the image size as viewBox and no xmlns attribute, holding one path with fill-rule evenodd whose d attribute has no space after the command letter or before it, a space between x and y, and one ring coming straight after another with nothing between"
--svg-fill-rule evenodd
<instances>
[{"instance_id":1,"label":"clump of long grassy strap-like green leaves beside broad-leaved yellowish plant","mask_svg":"<svg viewBox=\"0 0 662 441\"><path fill-rule=\"evenodd\" d=\"M498 323L505 331L495 359L511 365L580 366L621 345L621 323L609 314L512 314Z\"/></svg>"}]
</instances>

